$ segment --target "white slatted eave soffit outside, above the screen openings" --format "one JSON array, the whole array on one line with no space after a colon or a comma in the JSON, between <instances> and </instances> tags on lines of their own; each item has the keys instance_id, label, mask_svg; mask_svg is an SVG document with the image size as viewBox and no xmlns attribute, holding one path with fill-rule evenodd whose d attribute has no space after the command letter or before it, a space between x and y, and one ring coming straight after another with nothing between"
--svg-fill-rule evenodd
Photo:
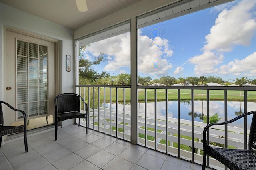
<instances>
[{"instance_id":1,"label":"white slatted eave soffit outside, above the screen openings","mask_svg":"<svg viewBox=\"0 0 256 170\"><path fill-rule=\"evenodd\" d=\"M150 12L148 14L144 14L138 17L138 28L143 28L146 26L150 26L152 24L156 24L158 22L162 22L165 20L170 20L172 18L176 18L179 16L183 16L186 14L190 14L192 12L196 12L198 10L210 8L213 6L217 6L226 2L230 2L231 0L184 0L174 2L173 4L156 10L154 12ZM114 26L113 29L103 30L101 32L97 32L96 34L92 34L90 36L80 38L79 44L80 46L94 43L100 40L104 40L106 38L110 38L112 36L117 36L119 34L123 34L130 31L130 23L122 23L118 26Z\"/></svg>"}]
</instances>

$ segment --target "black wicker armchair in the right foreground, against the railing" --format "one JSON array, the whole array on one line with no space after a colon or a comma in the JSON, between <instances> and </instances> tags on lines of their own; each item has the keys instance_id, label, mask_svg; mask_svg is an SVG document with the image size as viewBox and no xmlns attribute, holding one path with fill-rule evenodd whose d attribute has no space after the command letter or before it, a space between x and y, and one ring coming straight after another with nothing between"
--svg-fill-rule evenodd
<instances>
[{"instance_id":1,"label":"black wicker armchair in the right foreground, against the railing","mask_svg":"<svg viewBox=\"0 0 256 170\"><path fill-rule=\"evenodd\" d=\"M242 117L254 114L249 134L249 148L248 149L229 149L211 147L206 144L206 132L213 125L224 125L232 123ZM238 117L222 123L211 123L204 128L203 131L203 144L204 144L204 158L202 170L205 170L206 155L212 156L230 170L256 170L256 111L251 111L239 115Z\"/></svg>"}]
</instances>

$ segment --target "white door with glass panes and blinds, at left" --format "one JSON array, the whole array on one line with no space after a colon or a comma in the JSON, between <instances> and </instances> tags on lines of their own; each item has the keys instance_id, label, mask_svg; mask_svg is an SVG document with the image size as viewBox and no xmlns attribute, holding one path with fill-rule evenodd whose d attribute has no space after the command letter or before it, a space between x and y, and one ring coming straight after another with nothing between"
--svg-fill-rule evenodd
<instances>
[{"instance_id":1,"label":"white door with glass panes and blinds, at left","mask_svg":"<svg viewBox=\"0 0 256 170\"><path fill-rule=\"evenodd\" d=\"M28 129L53 123L56 96L56 44L6 31L6 102L25 111ZM22 123L22 114L6 115L7 125Z\"/></svg>"}]
</instances>

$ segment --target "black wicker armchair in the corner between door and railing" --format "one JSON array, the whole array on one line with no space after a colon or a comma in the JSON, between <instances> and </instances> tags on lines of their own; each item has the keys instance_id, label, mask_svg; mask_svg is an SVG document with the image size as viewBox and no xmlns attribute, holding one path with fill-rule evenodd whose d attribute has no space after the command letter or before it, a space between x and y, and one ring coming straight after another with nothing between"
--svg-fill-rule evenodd
<instances>
[{"instance_id":1,"label":"black wicker armchair in the corner between door and railing","mask_svg":"<svg viewBox=\"0 0 256 170\"><path fill-rule=\"evenodd\" d=\"M80 101L84 103L84 112L80 113ZM74 93L63 93L55 97L55 140L57 140L58 122L79 118L78 126L80 126L80 118L86 119L86 134L87 134L87 117L88 106L84 102L82 96Z\"/></svg>"}]
</instances>

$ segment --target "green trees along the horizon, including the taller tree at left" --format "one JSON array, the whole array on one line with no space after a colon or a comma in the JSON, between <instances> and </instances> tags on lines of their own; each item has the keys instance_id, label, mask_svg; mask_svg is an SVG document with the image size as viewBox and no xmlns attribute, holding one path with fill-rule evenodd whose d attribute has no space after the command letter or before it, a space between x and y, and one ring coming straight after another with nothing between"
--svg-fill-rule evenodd
<instances>
[{"instance_id":1,"label":"green trees along the horizon, including the taller tree at left","mask_svg":"<svg viewBox=\"0 0 256 170\"><path fill-rule=\"evenodd\" d=\"M84 57L84 51L86 47L90 45L84 45L79 48L79 84L84 85L130 85L130 74L122 73L119 75L111 76L109 73L102 71L99 73L94 67L100 65L100 63L106 61L106 55L100 53L98 57L87 59ZM247 77L236 78L233 80L236 85L243 86L246 83L256 85L256 79L251 80ZM218 83L222 85L230 85L232 83L224 81L221 77L215 76L200 76L200 77L180 77L178 79L171 76L163 76L159 79L154 79L150 76L142 77L138 76L139 85L174 85L174 84L192 84L192 85L206 85L206 83Z\"/></svg>"}]
</instances>

